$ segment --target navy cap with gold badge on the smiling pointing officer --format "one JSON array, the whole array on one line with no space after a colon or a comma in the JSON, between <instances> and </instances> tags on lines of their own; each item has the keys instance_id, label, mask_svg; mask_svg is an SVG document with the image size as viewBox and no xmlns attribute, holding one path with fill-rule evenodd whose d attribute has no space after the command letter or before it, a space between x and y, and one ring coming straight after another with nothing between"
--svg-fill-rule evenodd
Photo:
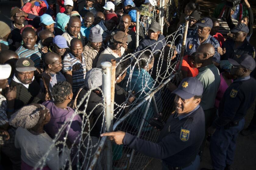
<instances>
[{"instance_id":1,"label":"navy cap with gold badge on the smiling pointing officer","mask_svg":"<svg viewBox=\"0 0 256 170\"><path fill-rule=\"evenodd\" d=\"M202 96L204 91L203 84L196 77L184 78L176 90L172 93L177 94L182 99L190 99L194 96Z\"/></svg>"}]
</instances>

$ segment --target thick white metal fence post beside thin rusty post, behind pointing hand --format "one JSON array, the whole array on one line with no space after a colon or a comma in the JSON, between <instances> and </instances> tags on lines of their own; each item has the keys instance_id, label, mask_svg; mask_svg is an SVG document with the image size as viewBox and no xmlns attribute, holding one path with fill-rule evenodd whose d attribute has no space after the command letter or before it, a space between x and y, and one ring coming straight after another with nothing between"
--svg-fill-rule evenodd
<instances>
[{"instance_id":1,"label":"thick white metal fence post beside thin rusty post, behind pointing hand","mask_svg":"<svg viewBox=\"0 0 256 170\"><path fill-rule=\"evenodd\" d=\"M113 129L113 115L111 112L111 66L110 62L101 63L102 67L102 91L105 101L105 114L106 114L106 132L111 132ZM110 140L106 142L107 148L107 170L112 169L112 143Z\"/></svg>"}]
</instances>

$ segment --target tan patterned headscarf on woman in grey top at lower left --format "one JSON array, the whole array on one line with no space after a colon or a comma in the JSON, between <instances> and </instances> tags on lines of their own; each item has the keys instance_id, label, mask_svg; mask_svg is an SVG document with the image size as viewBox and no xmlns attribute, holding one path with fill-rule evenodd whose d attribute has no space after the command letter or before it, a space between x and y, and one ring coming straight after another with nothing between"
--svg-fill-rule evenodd
<instances>
[{"instance_id":1,"label":"tan patterned headscarf on woman in grey top at lower left","mask_svg":"<svg viewBox=\"0 0 256 170\"><path fill-rule=\"evenodd\" d=\"M37 105L39 108L35 105ZM25 129L33 128L38 123L40 117L45 117L47 112L44 105L35 105L27 105L16 111L14 114L12 114L9 124L13 127L22 127Z\"/></svg>"}]
</instances>

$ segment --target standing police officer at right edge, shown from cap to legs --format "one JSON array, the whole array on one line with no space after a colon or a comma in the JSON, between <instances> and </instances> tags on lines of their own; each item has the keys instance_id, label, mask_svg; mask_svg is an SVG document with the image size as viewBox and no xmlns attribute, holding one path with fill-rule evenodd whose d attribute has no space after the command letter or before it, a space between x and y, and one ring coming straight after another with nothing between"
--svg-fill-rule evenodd
<instances>
[{"instance_id":1,"label":"standing police officer at right edge, shown from cap to legs","mask_svg":"<svg viewBox=\"0 0 256 170\"><path fill-rule=\"evenodd\" d=\"M244 116L256 96L256 80L250 76L255 60L244 54L229 59L231 74L237 76L219 104L219 117L209 127L210 153L214 170L228 170L233 163L238 133L244 128ZM204 168L206 169L206 168Z\"/></svg>"}]
</instances>

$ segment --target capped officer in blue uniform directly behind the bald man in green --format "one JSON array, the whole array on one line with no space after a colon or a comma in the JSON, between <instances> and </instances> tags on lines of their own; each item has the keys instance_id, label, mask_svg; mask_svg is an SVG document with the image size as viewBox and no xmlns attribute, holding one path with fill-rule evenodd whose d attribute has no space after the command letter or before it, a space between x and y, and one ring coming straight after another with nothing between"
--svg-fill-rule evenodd
<instances>
[{"instance_id":1,"label":"capped officer in blue uniform directly behind the bald man in green","mask_svg":"<svg viewBox=\"0 0 256 170\"><path fill-rule=\"evenodd\" d=\"M203 18L195 24L198 25L197 34L194 36L187 37L184 56L191 55L192 53L196 52L197 47L200 46L200 44L209 43L212 44L215 49L213 61L215 63L219 63L220 54L218 53L218 47L220 47L220 45L219 42L215 38L213 38L213 36L210 35L213 25L212 20L209 18ZM176 46L177 53L180 53L181 46L182 41L180 41L180 44Z\"/></svg>"}]
</instances>

